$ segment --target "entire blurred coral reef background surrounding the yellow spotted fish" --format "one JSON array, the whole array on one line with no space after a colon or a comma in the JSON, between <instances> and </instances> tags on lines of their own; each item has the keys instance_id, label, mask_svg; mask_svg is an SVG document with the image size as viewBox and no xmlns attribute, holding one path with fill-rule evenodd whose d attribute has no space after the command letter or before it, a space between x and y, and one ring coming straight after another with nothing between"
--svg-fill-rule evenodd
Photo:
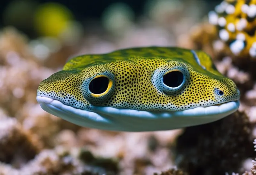
<instances>
[{"instance_id":1,"label":"entire blurred coral reef background surrounding the yellow spotted fish","mask_svg":"<svg viewBox=\"0 0 256 175\"><path fill-rule=\"evenodd\" d=\"M256 1L1 1L0 175L256 174ZM200 49L241 92L219 121L114 132L46 113L39 83L76 55Z\"/></svg>"}]
</instances>

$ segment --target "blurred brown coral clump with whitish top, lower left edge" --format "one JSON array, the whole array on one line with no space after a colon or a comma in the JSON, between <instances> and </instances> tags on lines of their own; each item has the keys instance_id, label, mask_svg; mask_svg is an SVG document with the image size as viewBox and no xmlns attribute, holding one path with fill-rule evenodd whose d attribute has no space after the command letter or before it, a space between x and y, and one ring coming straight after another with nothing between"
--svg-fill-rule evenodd
<instances>
[{"instance_id":1,"label":"blurred brown coral clump with whitish top, lower left edge","mask_svg":"<svg viewBox=\"0 0 256 175\"><path fill-rule=\"evenodd\" d=\"M12 163L19 168L33 159L41 148L37 138L22 129L14 118L1 119L0 123L0 161Z\"/></svg>"}]
</instances>

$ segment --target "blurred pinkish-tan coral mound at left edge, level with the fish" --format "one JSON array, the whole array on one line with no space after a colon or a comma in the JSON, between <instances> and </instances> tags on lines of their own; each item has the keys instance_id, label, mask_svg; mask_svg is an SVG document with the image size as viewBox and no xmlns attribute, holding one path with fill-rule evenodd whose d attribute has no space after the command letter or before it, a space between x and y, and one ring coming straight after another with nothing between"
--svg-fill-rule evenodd
<instances>
[{"instance_id":1,"label":"blurred pinkish-tan coral mound at left edge, level with the fish","mask_svg":"<svg viewBox=\"0 0 256 175\"><path fill-rule=\"evenodd\" d=\"M23 103L35 103L38 84L53 73L38 65L26 42L24 36L11 28L0 35L0 106L10 116L16 116Z\"/></svg>"}]
</instances>

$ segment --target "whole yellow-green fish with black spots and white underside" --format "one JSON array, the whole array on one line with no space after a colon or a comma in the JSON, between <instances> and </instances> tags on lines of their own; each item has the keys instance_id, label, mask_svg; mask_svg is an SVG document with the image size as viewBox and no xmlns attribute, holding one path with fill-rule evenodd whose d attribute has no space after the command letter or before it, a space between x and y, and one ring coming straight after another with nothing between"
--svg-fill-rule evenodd
<instances>
[{"instance_id":1,"label":"whole yellow-green fish with black spots and white underside","mask_svg":"<svg viewBox=\"0 0 256 175\"><path fill-rule=\"evenodd\" d=\"M43 80L41 107L80 126L160 131L219 120L239 107L236 84L202 51L143 47L81 55Z\"/></svg>"}]
</instances>

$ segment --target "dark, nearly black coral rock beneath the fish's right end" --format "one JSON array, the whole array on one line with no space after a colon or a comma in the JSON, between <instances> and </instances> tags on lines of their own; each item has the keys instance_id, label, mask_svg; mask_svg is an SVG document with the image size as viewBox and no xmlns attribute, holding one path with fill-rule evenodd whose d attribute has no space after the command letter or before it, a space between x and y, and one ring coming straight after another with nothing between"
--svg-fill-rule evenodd
<instances>
[{"instance_id":1,"label":"dark, nearly black coral rock beneath the fish's right end","mask_svg":"<svg viewBox=\"0 0 256 175\"><path fill-rule=\"evenodd\" d=\"M242 161L256 156L251 132L252 124L241 112L188 127L174 146L177 166L191 175L241 172Z\"/></svg>"}]
</instances>

